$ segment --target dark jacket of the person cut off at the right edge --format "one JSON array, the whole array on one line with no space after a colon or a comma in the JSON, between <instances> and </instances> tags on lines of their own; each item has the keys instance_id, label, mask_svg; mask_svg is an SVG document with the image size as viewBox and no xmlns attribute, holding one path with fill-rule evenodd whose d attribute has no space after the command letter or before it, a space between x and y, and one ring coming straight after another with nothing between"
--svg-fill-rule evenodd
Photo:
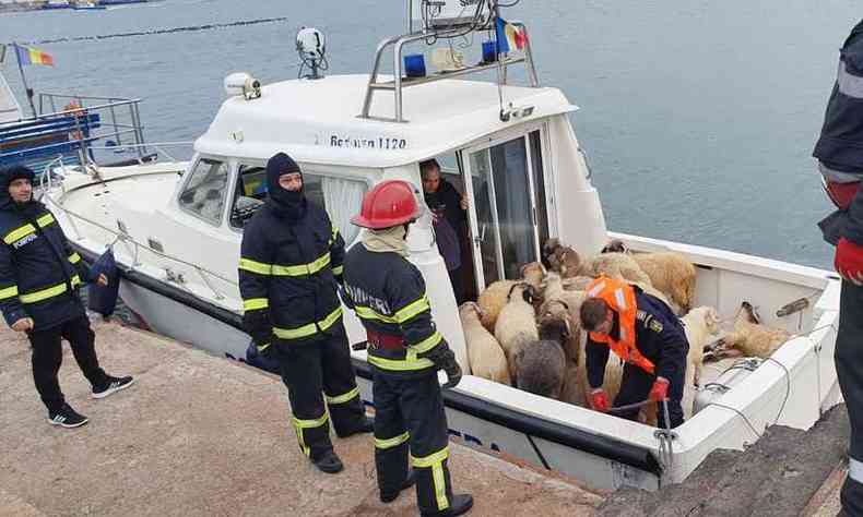
<instances>
[{"instance_id":1,"label":"dark jacket of the person cut off at the right edge","mask_svg":"<svg viewBox=\"0 0 863 517\"><path fill-rule=\"evenodd\" d=\"M836 84L813 156L823 168L863 179L863 21L839 52ZM844 237L863 245L863 191L848 211L837 211L819 226L832 244Z\"/></svg>"}]
</instances>

